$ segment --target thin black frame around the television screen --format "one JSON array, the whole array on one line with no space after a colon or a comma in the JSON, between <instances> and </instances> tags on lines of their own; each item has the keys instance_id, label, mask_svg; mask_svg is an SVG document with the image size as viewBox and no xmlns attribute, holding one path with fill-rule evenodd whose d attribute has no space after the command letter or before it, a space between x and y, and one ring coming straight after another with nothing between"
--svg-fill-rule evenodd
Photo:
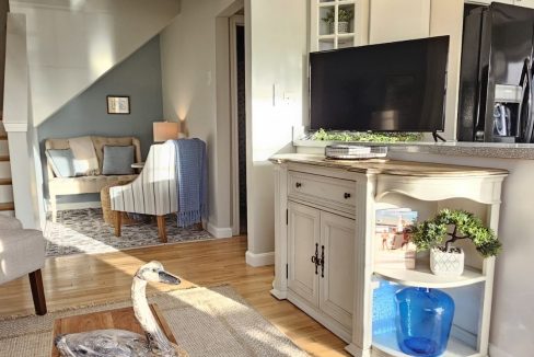
<instances>
[{"instance_id":1,"label":"thin black frame around the television screen","mask_svg":"<svg viewBox=\"0 0 534 357\"><path fill-rule=\"evenodd\" d=\"M417 41L431 41L431 39L446 39L446 45L448 45L448 50L446 50L446 61L445 61L445 72L444 72L444 83L443 83L443 110L441 114L441 128L438 129L430 129L430 130L380 130L380 129L367 129L367 130L353 130L353 129L327 129L327 128L312 128L312 56L318 55L318 54L328 54L328 53L340 53L340 51L351 51L355 49L359 49L360 47L378 47L378 46L386 46L390 44L403 44L403 43L413 43ZM371 45L363 45L363 46L355 46L355 47L345 47L345 48L337 48L337 49L326 49L326 50L317 50L317 51L312 51L307 56L307 99L309 99L309 105L307 105L307 119L309 119L309 125L305 127L306 131L317 131L320 129L325 129L327 131L337 131L337 133L343 133L343 131L349 131L349 133L444 133L445 130L445 115L446 115L446 94L448 94L448 79L449 79L449 55L450 55L450 46L451 46L451 36L449 35L443 35L443 36L429 36L429 37L422 37L422 38L415 38L415 39L404 39L404 41L394 41L394 42L387 42L387 43L381 43L381 44L371 44Z\"/></svg>"}]
</instances>

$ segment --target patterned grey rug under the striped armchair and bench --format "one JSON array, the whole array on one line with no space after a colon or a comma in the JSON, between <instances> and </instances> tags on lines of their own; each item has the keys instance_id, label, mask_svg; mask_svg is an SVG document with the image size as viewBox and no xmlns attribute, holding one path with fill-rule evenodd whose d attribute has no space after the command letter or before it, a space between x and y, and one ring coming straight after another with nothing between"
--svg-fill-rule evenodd
<instances>
[{"instance_id":1,"label":"patterned grey rug under the striped armchair and bench","mask_svg":"<svg viewBox=\"0 0 534 357\"><path fill-rule=\"evenodd\" d=\"M176 217L166 219L169 243L212 238L207 231L178 228ZM124 224L121 237L115 237L111 224L104 222L102 209L72 209L58 212L57 223L46 222L46 256L77 253L107 253L119 250L163 244L158 238L155 221L144 220Z\"/></svg>"}]
</instances>

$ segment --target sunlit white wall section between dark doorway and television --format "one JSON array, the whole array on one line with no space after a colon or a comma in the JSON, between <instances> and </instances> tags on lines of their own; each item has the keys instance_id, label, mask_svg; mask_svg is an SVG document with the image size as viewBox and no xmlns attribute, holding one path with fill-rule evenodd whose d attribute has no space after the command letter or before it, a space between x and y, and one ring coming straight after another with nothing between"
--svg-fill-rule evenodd
<instances>
[{"instance_id":1,"label":"sunlit white wall section between dark doorway and television","mask_svg":"<svg viewBox=\"0 0 534 357\"><path fill-rule=\"evenodd\" d=\"M293 126L307 122L306 0L245 1L247 55L247 263L275 250L274 173L268 158L291 152ZM285 97L287 97L285 100Z\"/></svg>"}]
</instances>

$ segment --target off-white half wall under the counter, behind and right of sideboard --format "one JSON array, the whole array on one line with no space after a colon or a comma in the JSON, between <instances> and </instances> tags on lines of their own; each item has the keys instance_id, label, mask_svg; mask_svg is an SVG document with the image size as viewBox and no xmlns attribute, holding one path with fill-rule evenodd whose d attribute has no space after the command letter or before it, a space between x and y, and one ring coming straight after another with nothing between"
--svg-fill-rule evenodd
<instances>
[{"instance_id":1,"label":"off-white half wall under the counter, behind and right of sideboard","mask_svg":"<svg viewBox=\"0 0 534 357\"><path fill-rule=\"evenodd\" d=\"M498 237L490 334L491 357L532 356L534 350L534 232L532 174L534 160L393 153L393 159L498 168L510 171L504 181Z\"/></svg>"}]
</instances>

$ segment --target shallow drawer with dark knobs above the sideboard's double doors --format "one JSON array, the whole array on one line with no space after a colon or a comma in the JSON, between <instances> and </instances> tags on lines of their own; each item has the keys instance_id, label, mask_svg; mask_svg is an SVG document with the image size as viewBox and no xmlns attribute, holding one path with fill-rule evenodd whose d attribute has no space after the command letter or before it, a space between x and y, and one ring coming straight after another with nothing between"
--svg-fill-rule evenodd
<instances>
[{"instance_id":1,"label":"shallow drawer with dark knobs above the sideboard's double doors","mask_svg":"<svg viewBox=\"0 0 534 357\"><path fill-rule=\"evenodd\" d=\"M349 211L353 211L356 207L356 184L348 180L290 171L288 195Z\"/></svg>"}]
</instances>

